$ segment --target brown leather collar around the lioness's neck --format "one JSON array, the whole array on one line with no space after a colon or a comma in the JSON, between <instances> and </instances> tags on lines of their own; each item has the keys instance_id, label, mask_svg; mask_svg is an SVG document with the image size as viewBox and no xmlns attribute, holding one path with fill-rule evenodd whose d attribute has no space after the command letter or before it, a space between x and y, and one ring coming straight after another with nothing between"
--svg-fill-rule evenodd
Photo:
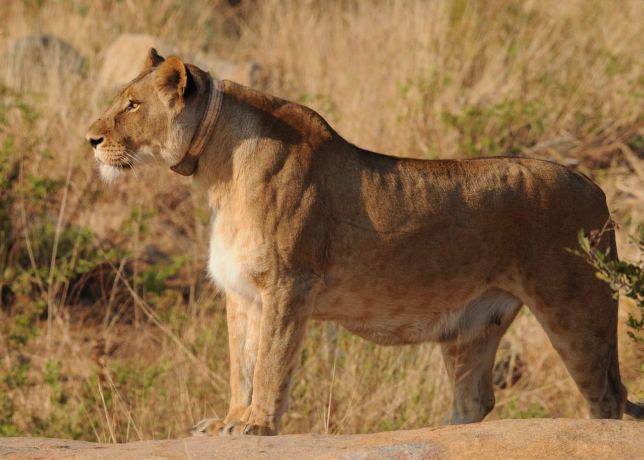
<instances>
[{"instance_id":1,"label":"brown leather collar around the lioness's neck","mask_svg":"<svg viewBox=\"0 0 644 460\"><path fill-rule=\"evenodd\" d=\"M205 144L213 134L214 125L219 118L220 109L222 108L223 85L222 80L218 78L210 79L208 89L208 105L205 108L204 117L194 133L193 140L190 142L188 151L185 152L184 158L170 169L178 172L182 176L192 176L197 168L199 156L204 151Z\"/></svg>"}]
</instances>

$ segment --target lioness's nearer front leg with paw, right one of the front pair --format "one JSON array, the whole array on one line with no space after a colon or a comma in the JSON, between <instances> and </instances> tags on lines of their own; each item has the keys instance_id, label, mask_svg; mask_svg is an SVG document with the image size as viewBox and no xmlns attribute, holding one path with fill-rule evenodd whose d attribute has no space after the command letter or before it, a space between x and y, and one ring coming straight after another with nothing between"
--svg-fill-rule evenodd
<instances>
[{"instance_id":1,"label":"lioness's nearer front leg with paw, right one of the front pair","mask_svg":"<svg viewBox=\"0 0 644 460\"><path fill-rule=\"evenodd\" d=\"M251 407L240 418L228 420L220 434L278 434L314 294L312 283L302 281L282 282L263 293Z\"/></svg>"}]
</instances>

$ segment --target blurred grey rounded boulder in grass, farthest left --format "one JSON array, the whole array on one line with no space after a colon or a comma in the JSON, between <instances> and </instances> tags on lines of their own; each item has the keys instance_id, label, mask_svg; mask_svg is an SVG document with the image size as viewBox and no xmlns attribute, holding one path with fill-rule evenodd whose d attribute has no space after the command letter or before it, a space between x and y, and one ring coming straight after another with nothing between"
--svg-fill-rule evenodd
<instances>
[{"instance_id":1,"label":"blurred grey rounded boulder in grass, farthest left","mask_svg":"<svg viewBox=\"0 0 644 460\"><path fill-rule=\"evenodd\" d=\"M66 96L84 77L86 62L73 46L53 35L21 37L6 48L0 75L18 92Z\"/></svg>"}]
</instances>

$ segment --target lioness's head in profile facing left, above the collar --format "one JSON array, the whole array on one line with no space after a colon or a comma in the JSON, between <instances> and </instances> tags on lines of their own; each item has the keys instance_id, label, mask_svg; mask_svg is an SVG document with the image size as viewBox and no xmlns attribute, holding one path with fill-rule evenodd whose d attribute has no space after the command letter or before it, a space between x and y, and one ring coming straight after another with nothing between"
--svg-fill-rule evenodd
<instances>
[{"instance_id":1,"label":"lioness's head in profile facing left, above the collar","mask_svg":"<svg viewBox=\"0 0 644 460\"><path fill-rule=\"evenodd\" d=\"M138 77L87 131L100 176L111 182L147 158L177 163L199 125L208 82L201 69L151 48Z\"/></svg>"}]
</instances>

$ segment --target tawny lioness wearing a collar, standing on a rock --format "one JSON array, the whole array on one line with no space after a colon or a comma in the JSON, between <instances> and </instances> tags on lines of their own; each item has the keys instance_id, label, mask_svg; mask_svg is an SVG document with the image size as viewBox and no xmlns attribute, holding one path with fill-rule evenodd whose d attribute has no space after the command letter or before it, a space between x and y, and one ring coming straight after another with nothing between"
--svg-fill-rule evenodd
<instances>
[{"instance_id":1,"label":"tawny lioness wearing a collar, standing on a rock","mask_svg":"<svg viewBox=\"0 0 644 460\"><path fill-rule=\"evenodd\" d=\"M365 151L307 107L154 49L87 138L108 181L155 156L207 191L232 398L225 419L200 421L194 436L278 433L309 318L377 344L440 342L455 393L444 423L480 421L522 304L593 418L643 416L620 381L617 300L565 251L580 228L609 219L583 174L526 158ZM616 257L612 230L605 240Z\"/></svg>"}]
</instances>

